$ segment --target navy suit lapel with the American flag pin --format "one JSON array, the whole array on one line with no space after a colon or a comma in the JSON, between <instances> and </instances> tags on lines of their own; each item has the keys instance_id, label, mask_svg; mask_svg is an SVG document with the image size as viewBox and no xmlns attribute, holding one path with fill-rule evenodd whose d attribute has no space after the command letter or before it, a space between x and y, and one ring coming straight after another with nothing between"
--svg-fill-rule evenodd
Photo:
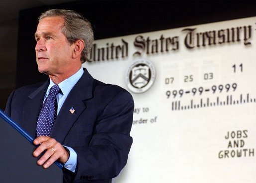
<instances>
[{"instance_id":1,"label":"navy suit lapel with the American flag pin","mask_svg":"<svg viewBox=\"0 0 256 183\"><path fill-rule=\"evenodd\" d=\"M93 78L84 69L84 74L70 91L54 122L51 137L62 143L74 122L86 109L85 100L92 98ZM74 108L72 114L69 110Z\"/></svg>"}]
</instances>

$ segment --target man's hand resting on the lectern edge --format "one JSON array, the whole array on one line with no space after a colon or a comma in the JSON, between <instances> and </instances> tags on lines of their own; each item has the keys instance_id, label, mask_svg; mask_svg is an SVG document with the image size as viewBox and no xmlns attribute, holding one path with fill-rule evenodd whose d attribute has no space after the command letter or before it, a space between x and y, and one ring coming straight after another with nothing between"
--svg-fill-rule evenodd
<instances>
[{"instance_id":1,"label":"man's hand resting on the lectern edge","mask_svg":"<svg viewBox=\"0 0 256 183\"><path fill-rule=\"evenodd\" d=\"M43 165L43 168L48 168L56 160L58 160L60 163L66 163L68 161L69 153L54 138L48 136L39 136L34 140L33 143L35 145L40 144L33 152L34 157L38 157L43 151L46 150L44 155L37 161L37 164Z\"/></svg>"}]
</instances>

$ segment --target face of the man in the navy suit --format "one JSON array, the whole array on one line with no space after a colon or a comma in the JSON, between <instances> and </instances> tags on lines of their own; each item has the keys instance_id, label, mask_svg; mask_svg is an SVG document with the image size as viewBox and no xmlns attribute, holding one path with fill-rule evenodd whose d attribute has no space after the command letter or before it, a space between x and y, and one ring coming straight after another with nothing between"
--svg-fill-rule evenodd
<instances>
[{"instance_id":1,"label":"face of the man in the navy suit","mask_svg":"<svg viewBox=\"0 0 256 183\"><path fill-rule=\"evenodd\" d=\"M65 74L72 67L73 47L61 32L64 19L59 16L43 18L35 33L38 70L48 75Z\"/></svg>"}]
</instances>

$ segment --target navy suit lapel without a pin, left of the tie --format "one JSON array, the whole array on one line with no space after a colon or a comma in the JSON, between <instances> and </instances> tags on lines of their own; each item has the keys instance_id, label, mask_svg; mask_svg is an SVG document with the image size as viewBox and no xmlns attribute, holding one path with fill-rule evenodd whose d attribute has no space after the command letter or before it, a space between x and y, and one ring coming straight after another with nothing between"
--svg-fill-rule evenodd
<instances>
[{"instance_id":1,"label":"navy suit lapel without a pin, left of the tie","mask_svg":"<svg viewBox=\"0 0 256 183\"><path fill-rule=\"evenodd\" d=\"M48 85L49 80L31 93L23 104L22 127L32 136L35 136L37 119Z\"/></svg>"}]
</instances>

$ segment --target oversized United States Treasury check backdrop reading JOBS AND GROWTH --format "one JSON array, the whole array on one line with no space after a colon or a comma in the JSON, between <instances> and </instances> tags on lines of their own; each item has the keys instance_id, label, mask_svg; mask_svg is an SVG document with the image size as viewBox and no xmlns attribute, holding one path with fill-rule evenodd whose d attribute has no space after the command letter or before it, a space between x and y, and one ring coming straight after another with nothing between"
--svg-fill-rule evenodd
<instances>
[{"instance_id":1,"label":"oversized United States Treasury check backdrop reading JOBS AND GROWTH","mask_svg":"<svg viewBox=\"0 0 256 183\"><path fill-rule=\"evenodd\" d=\"M156 72L147 91L130 91L134 142L116 183L256 182L255 22L250 17L95 41L95 48L109 46L105 52L111 43L128 43L123 58L109 55L109 60L83 65L96 79L129 90L132 63L151 61ZM169 39L166 51L163 37L175 36L178 47ZM140 41L134 44L136 38ZM157 39L158 45L147 38ZM156 47L158 53L152 54Z\"/></svg>"}]
</instances>

